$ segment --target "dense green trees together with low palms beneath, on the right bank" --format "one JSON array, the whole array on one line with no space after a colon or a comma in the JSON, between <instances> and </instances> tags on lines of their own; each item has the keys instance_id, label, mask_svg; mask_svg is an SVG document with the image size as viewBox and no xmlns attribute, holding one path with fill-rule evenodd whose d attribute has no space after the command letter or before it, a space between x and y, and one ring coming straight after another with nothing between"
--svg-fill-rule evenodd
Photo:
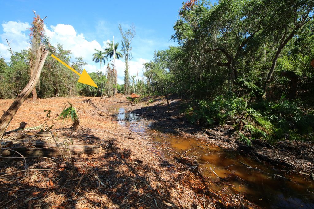
<instances>
[{"instance_id":1,"label":"dense green trees together with low palms beneath, on the right bank","mask_svg":"<svg viewBox=\"0 0 314 209\"><path fill-rule=\"evenodd\" d=\"M184 3L172 39L144 64L147 91L192 101L199 125L234 124L239 139L313 139L313 1Z\"/></svg>"}]
</instances>

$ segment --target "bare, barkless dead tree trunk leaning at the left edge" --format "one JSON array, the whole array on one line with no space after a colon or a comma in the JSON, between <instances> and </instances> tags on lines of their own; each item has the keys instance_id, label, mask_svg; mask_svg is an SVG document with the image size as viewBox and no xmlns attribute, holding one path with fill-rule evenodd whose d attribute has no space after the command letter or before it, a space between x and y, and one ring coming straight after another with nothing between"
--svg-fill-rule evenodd
<instances>
[{"instance_id":1,"label":"bare, barkless dead tree trunk leaning at the left edge","mask_svg":"<svg viewBox=\"0 0 314 209\"><path fill-rule=\"evenodd\" d=\"M34 69L30 77L30 81L25 86L25 88L21 91L21 93L19 93L18 97L15 98L14 102L8 108L7 112L5 112L0 119L0 138L4 135L5 130L7 129L15 113L19 110L19 107L21 107L25 99L30 95L30 92L32 92L33 89L35 88L39 80L39 76L41 74L41 69L44 66L48 53L49 52L46 50L44 45L41 44L37 53L36 61L33 65Z\"/></svg>"}]
</instances>

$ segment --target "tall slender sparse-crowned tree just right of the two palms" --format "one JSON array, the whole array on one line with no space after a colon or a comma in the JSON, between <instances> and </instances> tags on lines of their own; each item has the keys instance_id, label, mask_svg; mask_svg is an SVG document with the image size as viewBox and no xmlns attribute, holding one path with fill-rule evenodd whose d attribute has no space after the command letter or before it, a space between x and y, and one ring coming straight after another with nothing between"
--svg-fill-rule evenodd
<instances>
[{"instance_id":1,"label":"tall slender sparse-crowned tree just right of the two palms","mask_svg":"<svg viewBox=\"0 0 314 209\"><path fill-rule=\"evenodd\" d=\"M135 36L135 27L134 24L131 25L131 28L123 32L122 26L119 25L120 34L122 36L122 53L125 58L125 71L124 71L124 95L128 95L129 86L130 86L130 76L129 76L129 64L128 61L133 58L131 54L132 46L131 41Z\"/></svg>"}]
</instances>

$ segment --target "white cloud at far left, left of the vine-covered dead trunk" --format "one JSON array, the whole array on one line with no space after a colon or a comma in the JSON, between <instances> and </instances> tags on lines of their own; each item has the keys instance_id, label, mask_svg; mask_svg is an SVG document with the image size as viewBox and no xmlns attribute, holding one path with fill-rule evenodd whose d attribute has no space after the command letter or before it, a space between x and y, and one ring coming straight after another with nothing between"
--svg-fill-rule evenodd
<instances>
[{"instance_id":1,"label":"white cloud at far left, left of the vine-covered dead trunk","mask_svg":"<svg viewBox=\"0 0 314 209\"><path fill-rule=\"evenodd\" d=\"M11 53L8 51L9 47L6 39L8 39L8 41L10 42L10 46L13 51L27 49L27 47L29 46L28 28L30 27L30 24L9 21L1 25L3 27L4 33L0 34L0 55L3 56L6 61L9 61Z\"/></svg>"}]
</instances>

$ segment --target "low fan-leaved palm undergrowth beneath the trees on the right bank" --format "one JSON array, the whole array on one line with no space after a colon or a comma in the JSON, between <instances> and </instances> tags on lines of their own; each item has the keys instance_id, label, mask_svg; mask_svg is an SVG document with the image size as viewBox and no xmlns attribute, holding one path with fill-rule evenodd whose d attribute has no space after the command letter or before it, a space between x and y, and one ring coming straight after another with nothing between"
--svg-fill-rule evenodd
<instances>
[{"instance_id":1,"label":"low fan-leaved palm undergrowth beneath the trees on the right bank","mask_svg":"<svg viewBox=\"0 0 314 209\"><path fill-rule=\"evenodd\" d=\"M196 125L225 125L231 122L241 130L239 140L245 143L249 143L246 138L280 139L287 134L298 140L312 138L314 127L313 112L300 109L285 95L279 101L264 103L259 111L249 107L243 98L220 96L211 102L199 101L196 107L188 107L185 113L188 121Z\"/></svg>"}]
</instances>

